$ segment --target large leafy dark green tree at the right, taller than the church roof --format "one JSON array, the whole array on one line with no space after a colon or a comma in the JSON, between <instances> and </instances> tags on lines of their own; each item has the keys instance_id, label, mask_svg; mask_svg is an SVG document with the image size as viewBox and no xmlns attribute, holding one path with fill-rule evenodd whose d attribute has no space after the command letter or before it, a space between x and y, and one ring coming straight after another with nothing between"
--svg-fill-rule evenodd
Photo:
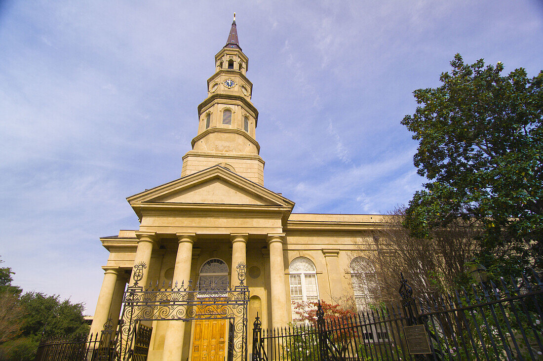
<instances>
[{"instance_id":1,"label":"large leafy dark green tree at the right, taller than the church roof","mask_svg":"<svg viewBox=\"0 0 543 361\"><path fill-rule=\"evenodd\" d=\"M500 75L503 65L464 64L459 54L438 88L414 91L402 124L419 141L418 173L430 182L409 202L403 225L430 237L451 225L482 231L479 257L512 271L542 267L543 71Z\"/></svg>"}]
</instances>

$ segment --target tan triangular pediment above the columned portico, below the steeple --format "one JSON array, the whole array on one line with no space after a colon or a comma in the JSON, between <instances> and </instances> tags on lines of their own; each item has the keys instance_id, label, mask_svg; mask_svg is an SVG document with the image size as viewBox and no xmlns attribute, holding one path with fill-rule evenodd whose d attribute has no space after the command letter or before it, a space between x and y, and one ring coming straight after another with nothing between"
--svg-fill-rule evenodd
<instances>
[{"instance_id":1,"label":"tan triangular pediment above the columned portico, below the steeple","mask_svg":"<svg viewBox=\"0 0 543 361\"><path fill-rule=\"evenodd\" d=\"M292 201L230 170L213 166L128 198L130 204L294 206Z\"/></svg>"}]
</instances>

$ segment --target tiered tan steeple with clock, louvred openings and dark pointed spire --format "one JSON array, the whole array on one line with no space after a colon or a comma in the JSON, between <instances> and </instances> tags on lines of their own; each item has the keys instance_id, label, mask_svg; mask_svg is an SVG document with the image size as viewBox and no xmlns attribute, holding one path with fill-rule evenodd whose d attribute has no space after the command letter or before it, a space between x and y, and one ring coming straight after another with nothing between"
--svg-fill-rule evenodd
<instances>
[{"instance_id":1,"label":"tiered tan steeple with clock, louvred openings and dark pointed spire","mask_svg":"<svg viewBox=\"0 0 543 361\"><path fill-rule=\"evenodd\" d=\"M251 103L248 69L234 13L228 41L215 55L216 72L207 79L207 98L198 105L198 134L183 157L181 176L219 164L263 185L264 161L256 141L258 111Z\"/></svg>"}]
</instances>

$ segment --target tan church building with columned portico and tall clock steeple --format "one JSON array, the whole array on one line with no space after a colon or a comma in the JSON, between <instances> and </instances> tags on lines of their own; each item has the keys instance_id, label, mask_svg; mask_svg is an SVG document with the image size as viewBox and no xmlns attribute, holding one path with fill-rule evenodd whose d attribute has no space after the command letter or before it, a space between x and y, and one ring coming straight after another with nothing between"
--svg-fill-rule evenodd
<instances>
[{"instance_id":1,"label":"tan church building with columned portico and tall clock steeple","mask_svg":"<svg viewBox=\"0 0 543 361\"><path fill-rule=\"evenodd\" d=\"M145 265L139 284L191 281L230 287L239 282L237 265L245 264L249 353L257 313L262 327L269 328L296 318L294 302L338 303L348 297L363 306L364 275L351 265L367 261L361 250L372 244L383 216L293 213L293 200L264 186L248 71L234 20L226 45L215 55L180 178L127 199L140 221L137 230L100 238L109 258L102 267L92 333L103 330L108 318L116 326L137 264ZM224 320L148 324L149 360L224 359Z\"/></svg>"}]
</instances>

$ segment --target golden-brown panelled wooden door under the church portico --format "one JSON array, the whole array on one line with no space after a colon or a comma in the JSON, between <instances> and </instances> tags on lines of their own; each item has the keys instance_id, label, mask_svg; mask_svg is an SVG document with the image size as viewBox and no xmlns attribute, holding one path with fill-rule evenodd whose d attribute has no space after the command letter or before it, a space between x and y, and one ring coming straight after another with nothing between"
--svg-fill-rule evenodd
<instances>
[{"instance_id":1,"label":"golden-brown panelled wooden door under the church portico","mask_svg":"<svg viewBox=\"0 0 543 361\"><path fill-rule=\"evenodd\" d=\"M226 319L199 320L194 322L192 338L193 361L223 361L228 344Z\"/></svg>"}]
</instances>

